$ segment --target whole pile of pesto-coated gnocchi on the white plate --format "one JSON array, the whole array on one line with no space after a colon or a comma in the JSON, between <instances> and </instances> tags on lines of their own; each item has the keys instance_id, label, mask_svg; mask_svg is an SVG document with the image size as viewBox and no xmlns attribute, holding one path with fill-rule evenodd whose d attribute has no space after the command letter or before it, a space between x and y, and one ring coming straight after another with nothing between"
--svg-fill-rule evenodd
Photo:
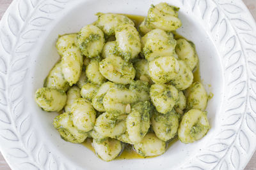
<instances>
[{"instance_id":1,"label":"whole pile of pesto-coated gnocchi on the white plate","mask_svg":"<svg viewBox=\"0 0 256 170\"><path fill-rule=\"evenodd\" d=\"M151 157L174 138L193 143L207 134L207 92L193 81L195 46L173 36L182 25L178 11L152 5L139 27L125 15L97 13L93 24L59 36L61 60L35 101L60 112L53 125L61 138L92 138L100 159L110 161L127 145Z\"/></svg>"}]
</instances>

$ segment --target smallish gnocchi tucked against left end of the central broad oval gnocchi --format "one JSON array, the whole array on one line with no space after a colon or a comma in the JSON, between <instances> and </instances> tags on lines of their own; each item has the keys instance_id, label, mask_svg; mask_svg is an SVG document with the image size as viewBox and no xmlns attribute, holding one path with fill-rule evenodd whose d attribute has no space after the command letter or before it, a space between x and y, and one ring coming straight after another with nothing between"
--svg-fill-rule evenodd
<instances>
[{"instance_id":1,"label":"smallish gnocchi tucked against left end of the central broad oval gnocchi","mask_svg":"<svg viewBox=\"0 0 256 170\"><path fill-rule=\"evenodd\" d=\"M99 61L97 60L91 60L88 66L86 66L86 76L88 81L97 85L102 85L106 81L106 78L100 74Z\"/></svg>"}]
</instances>

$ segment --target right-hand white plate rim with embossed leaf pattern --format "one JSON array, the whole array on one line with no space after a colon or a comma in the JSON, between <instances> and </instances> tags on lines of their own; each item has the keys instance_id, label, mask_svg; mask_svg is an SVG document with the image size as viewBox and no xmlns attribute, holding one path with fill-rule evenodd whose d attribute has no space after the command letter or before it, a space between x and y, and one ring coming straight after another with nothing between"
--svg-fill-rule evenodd
<instances>
[{"instance_id":1,"label":"right-hand white plate rim with embossed leaf pattern","mask_svg":"<svg viewBox=\"0 0 256 170\"><path fill-rule=\"evenodd\" d=\"M244 160L250 158L248 153L254 150L252 141L256 139L256 32L248 18L243 17L243 5L231 0L207 3L204 21L209 24L212 37L219 40L228 75L224 99L227 109L221 113L221 131L211 139L204 155L191 162L199 160L197 165L202 169L241 169ZM191 2L188 4L191 6ZM191 11L203 12L201 7L193 6Z\"/></svg>"}]
</instances>

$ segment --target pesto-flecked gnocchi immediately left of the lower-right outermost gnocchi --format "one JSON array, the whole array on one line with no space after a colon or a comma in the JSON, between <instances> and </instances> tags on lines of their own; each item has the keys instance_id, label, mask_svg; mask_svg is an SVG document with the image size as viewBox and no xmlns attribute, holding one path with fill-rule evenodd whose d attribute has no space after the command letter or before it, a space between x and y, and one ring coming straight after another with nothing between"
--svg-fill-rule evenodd
<instances>
[{"instance_id":1,"label":"pesto-flecked gnocchi immediately left of the lower-right outermost gnocchi","mask_svg":"<svg viewBox=\"0 0 256 170\"><path fill-rule=\"evenodd\" d=\"M168 141L177 134L179 127L179 117L174 111L166 114L154 112L151 118L152 129L156 133L157 138Z\"/></svg>"}]
</instances>

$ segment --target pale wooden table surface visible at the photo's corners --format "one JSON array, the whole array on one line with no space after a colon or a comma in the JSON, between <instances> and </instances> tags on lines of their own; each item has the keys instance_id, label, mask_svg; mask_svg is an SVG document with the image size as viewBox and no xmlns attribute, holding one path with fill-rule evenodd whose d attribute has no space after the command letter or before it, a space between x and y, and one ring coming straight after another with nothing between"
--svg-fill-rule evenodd
<instances>
[{"instance_id":1,"label":"pale wooden table surface visible at the photo's corners","mask_svg":"<svg viewBox=\"0 0 256 170\"><path fill-rule=\"evenodd\" d=\"M256 0L243 0L246 6L251 11L253 17L256 20ZM0 0L0 19L2 18L4 11L8 8L8 6L12 3L12 0ZM0 169L1 170L10 170L10 167L5 162L2 154L0 153ZM248 163L245 168L246 170L256 170L256 152L252 156L252 159Z\"/></svg>"}]
</instances>

